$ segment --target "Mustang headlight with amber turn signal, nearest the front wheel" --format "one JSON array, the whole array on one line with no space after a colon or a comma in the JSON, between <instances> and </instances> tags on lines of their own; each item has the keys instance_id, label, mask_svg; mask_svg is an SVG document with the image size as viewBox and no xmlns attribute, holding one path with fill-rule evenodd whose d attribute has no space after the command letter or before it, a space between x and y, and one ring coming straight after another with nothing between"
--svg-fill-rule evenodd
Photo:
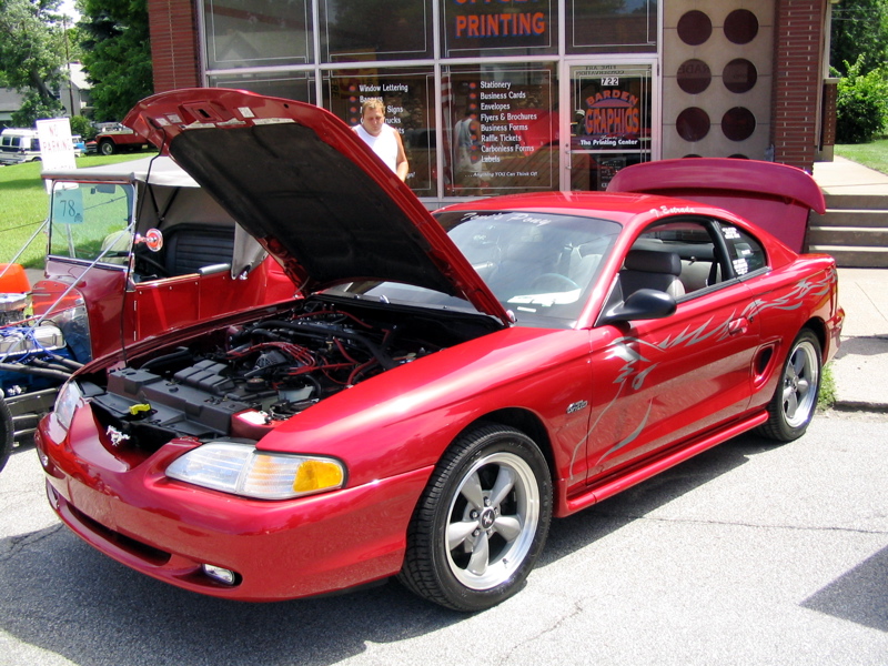
<instances>
[{"instance_id":1,"label":"Mustang headlight with amber turn signal, nearest the front wheel","mask_svg":"<svg viewBox=\"0 0 888 666\"><path fill-rule=\"evenodd\" d=\"M167 467L167 476L245 497L291 500L341 488L345 467L329 457L268 453L249 444L209 442L173 461Z\"/></svg>"}]
</instances>

